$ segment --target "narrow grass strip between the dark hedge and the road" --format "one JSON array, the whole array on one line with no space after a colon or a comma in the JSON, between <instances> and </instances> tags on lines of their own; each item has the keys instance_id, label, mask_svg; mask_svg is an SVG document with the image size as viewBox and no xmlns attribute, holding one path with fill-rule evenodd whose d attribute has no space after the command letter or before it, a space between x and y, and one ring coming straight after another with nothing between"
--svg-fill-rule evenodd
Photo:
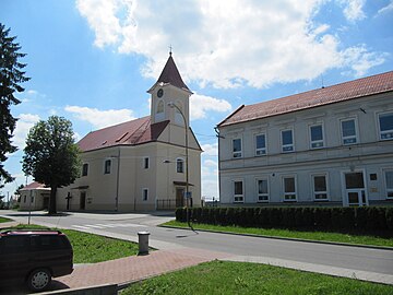
<instances>
[{"instance_id":1,"label":"narrow grass strip between the dark hedge and the road","mask_svg":"<svg viewBox=\"0 0 393 295\"><path fill-rule=\"evenodd\" d=\"M170 221L163 225L188 227L187 223ZM274 237L289 237L289 238L301 238L311 240L324 240L324 241L338 241L347 244L359 244L359 245L373 245L393 247L393 238L380 237L372 235L354 235L354 234L341 234L341 233L327 233L327 232L300 232L290 229L278 229L278 228L253 228L253 227L238 227L238 226L219 226L210 224L192 224L194 229L209 229L218 231L236 234L252 234L261 236L274 236Z\"/></svg>"}]
</instances>

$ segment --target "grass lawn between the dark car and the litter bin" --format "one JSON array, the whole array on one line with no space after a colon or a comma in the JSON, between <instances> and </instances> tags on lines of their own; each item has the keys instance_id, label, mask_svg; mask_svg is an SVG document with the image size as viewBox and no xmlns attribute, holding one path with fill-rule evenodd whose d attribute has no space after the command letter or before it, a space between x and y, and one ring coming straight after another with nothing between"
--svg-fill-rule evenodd
<instances>
[{"instance_id":1,"label":"grass lawn between the dark car and the litter bin","mask_svg":"<svg viewBox=\"0 0 393 295\"><path fill-rule=\"evenodd\" d=\"M48 228L39 225L21 224L11 229ZM59 229L59 228L52 228ZM64 233L73 248L74 263L95 263L138 255L139 246L135 243L122 239L103 237L72 229L59 229Z\"/></svg>"}]
</instances>

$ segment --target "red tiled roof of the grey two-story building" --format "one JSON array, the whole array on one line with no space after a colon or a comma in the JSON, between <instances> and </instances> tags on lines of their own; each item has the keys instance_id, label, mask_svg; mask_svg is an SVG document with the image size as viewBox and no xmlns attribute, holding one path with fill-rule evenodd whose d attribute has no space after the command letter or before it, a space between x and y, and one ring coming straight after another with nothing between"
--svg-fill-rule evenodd
<instances>
[{"instance_id":1,"label":"red tiled roof of the grey two-story building","mask_svg":"<svg viewBox=\"0 0 393 295\"><path fill-rule=\"evenodd\" d=\"M393 71L376 74L333 86L303 92L278 99L241 106L218 127L272 117L393 91Z\"/></svg>"}]
</instances>

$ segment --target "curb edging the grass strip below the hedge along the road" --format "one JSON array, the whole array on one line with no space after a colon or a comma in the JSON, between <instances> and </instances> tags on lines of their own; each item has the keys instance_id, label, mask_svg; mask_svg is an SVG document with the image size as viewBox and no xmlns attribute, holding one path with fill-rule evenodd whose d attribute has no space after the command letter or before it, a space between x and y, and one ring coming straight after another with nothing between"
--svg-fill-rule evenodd
<instances>
[{"instance_id":1,"label":"curb edging the grass strip below the hedge along the road","mask_svg":"<svg viewBox=\"0 0 393 295\"><path fill-rule=\"evenodd\" d=\"M335 246L345 246L345 247L358 247L358 248L369 248L369 249L393 251L393 247L377 246L377 245L362 245L362 244L349 244L349 243L315 240L315 239L306 239L306 238L277 237L277 236L255 235L255 234L241 234L241 233L230 233L230 232L213 231L213 229L191 229L189 227L180 227L180 226L171 226L171 225L158 225L158 226L159 227L167 227L167 228L181 228L181 229L186 229L186 231L199 231L199 232L215 233L215 234L227 234L227 235L234 235L234 236L271 238L271 239L281 239L281 240L291 240L291 241L302 241L302 243L313 243L313 244L325 244L325 245L335 245Z\"/></svg>"}]
</instances>

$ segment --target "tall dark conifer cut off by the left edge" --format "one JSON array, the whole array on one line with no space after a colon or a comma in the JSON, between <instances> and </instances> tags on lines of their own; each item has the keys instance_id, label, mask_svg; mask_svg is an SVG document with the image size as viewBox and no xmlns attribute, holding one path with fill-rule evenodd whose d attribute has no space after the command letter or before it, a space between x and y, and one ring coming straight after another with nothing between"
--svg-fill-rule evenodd
<instances>
[{"instance_id":1,"label":"tall dark conifer cut off by the left edge","mask_svg":"<svg viewBox=\"0 0 393 295\"><path fill-rule=\"evenodd\" d=\"M3 182L11 182L13 178L4 169L3 163L7 154L16 151L12 145L12 133L16 126L16 119L11 115L10 106L21 102L14 96L15 92L23 92L20 83L26 82L23 68L25 63L19 62L25 54L19 52L21 46L15 43L16 37L10 37L10 28L0 23L0 187Z\"/></svg>"}]
</instances>

